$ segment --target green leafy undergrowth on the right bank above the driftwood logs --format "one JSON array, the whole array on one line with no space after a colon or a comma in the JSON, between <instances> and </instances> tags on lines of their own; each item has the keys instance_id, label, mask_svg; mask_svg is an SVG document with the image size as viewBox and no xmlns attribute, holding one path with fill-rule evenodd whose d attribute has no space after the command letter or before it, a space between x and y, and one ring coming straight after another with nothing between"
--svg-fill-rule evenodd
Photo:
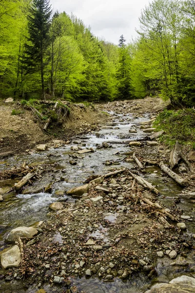
<instances>
[{"instance_id":1,"label":"green leafy undergrowth on the right bank above the driftwood logs","mask_svg":"<svg viewBox=\"0 0 195 293\"><path fill-rule=\"evenodd\" d=\"M182 145L195 148L195 110L167 110L160 113L153 124L156 131L164 130L159 138L161 143L174 146L176 140Z\"/></svg>"}]
</instances>

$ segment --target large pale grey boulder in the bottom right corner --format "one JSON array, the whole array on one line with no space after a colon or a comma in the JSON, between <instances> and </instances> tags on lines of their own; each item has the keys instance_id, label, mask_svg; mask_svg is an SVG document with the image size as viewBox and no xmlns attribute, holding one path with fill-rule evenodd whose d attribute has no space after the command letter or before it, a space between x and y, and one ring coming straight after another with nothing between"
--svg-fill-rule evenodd
<instances>
[{"instance_id":1,"label":"large pale grey boulder in the bottom right corner","mask_svg":"<svg viewBox=\"0 0 195 293\"><path fill-rule=\"evenodd\" d=\"M193 293L195 292L195 278L180 276L167 283L156 284L145 293Z\"/></svg>"}]
</instances>

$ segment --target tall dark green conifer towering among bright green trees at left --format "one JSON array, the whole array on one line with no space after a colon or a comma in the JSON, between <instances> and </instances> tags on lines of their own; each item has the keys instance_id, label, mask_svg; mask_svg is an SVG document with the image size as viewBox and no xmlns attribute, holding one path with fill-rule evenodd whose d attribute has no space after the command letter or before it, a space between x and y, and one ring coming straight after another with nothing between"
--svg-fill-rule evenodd
<instances>
[{"instance_id":1,"label":"tall dark green conifer towering among bright green trees at left","mask_svg":"<svg viewBox=\"0 0 195 293\"><path fill-rule=\"evenodd\" d=\"M44 67L46 50L50 44L49 29L51 18L49 0L33 0L28 15L28 42L25 45L27 73L39 71L41 75L42 96L45 98Z\"/></svg>"}]
</instances>

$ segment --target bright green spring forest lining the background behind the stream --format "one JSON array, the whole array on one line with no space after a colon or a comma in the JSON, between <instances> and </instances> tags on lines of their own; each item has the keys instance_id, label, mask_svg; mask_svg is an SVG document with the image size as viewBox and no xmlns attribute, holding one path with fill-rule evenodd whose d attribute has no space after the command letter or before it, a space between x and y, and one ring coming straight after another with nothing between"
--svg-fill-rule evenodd
<instances>
[{"instance_id":1,"label":"bright green spring forest lining the background behind the stream","mask_svg":"<svg viewBox=\"0 0 195 293\"><path fill-rule=\"evenodd\" d=\"M49 0L0 0L0 98L195 104L195 1L154 0L136 40L99 40Z\"/></svg>"}]
</instances>

